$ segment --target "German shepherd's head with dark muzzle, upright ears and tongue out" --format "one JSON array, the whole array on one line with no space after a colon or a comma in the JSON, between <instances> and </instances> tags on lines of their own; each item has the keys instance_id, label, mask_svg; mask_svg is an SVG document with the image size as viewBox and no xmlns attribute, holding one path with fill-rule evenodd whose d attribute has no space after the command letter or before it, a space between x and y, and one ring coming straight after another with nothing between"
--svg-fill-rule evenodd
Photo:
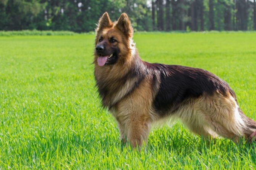
<instances>
[{"instance_id":1,"label":"German shepherd's head with dark muzzle, upright ears and tongue out","mask_svg":"<svg viewBox=\"0 0 256 170\"><path fill-rule=\"evenodd\" d=\"M134 48L133 28L127 14L112 22L105 12L96 29L94 63L99 66L125 63Z\"/></svg>"}]
</instances>

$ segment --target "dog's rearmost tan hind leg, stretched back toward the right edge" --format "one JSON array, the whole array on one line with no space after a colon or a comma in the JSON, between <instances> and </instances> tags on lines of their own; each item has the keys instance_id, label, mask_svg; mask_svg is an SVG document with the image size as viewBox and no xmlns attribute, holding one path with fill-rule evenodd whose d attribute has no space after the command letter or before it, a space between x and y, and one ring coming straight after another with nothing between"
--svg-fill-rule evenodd
<instances>
[{"instance_id":1,"label":"dog's rearmost tan hind leg, stretched back toward the right edge","mask_svg":"<svg viewBox=\"0 0 256 170\"><path fill-rule=\"evenodd\" d=\"M250 140L255 136L256 122L243 114L231 95L204 96L200 103L207 122L220 136L230 138L235 142L241 137Z\"/></svg>"}]
</instances>

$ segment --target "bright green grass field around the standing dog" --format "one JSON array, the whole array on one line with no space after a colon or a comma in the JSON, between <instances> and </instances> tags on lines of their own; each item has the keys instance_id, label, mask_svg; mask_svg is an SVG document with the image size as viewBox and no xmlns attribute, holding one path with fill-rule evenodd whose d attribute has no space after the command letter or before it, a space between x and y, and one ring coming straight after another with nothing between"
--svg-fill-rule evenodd
<instances>
[{"instance_id":1,"label":"bright green grass field around the standing dog","mask_svg":"<svg viewBox=\"0 0 256 170\"><path fill-rule=\"evenodd\" d=\"M256 32L136 33L143 60L199 67L256 119ZM0 169L255 169L256 145L207 143L179 122L121 146L93 76L94 35L0 37Z\"/></svg>"}]
</instances>

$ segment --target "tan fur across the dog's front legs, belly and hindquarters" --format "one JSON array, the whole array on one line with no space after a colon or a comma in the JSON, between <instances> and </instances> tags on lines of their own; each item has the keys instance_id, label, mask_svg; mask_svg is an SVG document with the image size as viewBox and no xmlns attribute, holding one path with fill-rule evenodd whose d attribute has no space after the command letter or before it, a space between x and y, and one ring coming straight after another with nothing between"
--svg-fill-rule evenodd
<instances>
[{"instance_id":1,"label":"tan fur across the dog's front legs, belly and hindquarters","mask_svg":"<svg viewBox=\"0 0 256 170\"><path fill-rule=\"evenodd\" d=\"M148 79L150 82L150 79ZM131 95L118 103L113 116L118 121L120 137L132 146L146 143L151 124L161 121L152 111L154 92L150 83L144 81ZM244 120L232 96L215 93L191 99L165 119L180 119L192 132L206 137L225 137L237 141L244 135ZM253 129L251 129L253 132ZM251 134L250 132L248 134Z\"/></svg>"}]
</instances>

